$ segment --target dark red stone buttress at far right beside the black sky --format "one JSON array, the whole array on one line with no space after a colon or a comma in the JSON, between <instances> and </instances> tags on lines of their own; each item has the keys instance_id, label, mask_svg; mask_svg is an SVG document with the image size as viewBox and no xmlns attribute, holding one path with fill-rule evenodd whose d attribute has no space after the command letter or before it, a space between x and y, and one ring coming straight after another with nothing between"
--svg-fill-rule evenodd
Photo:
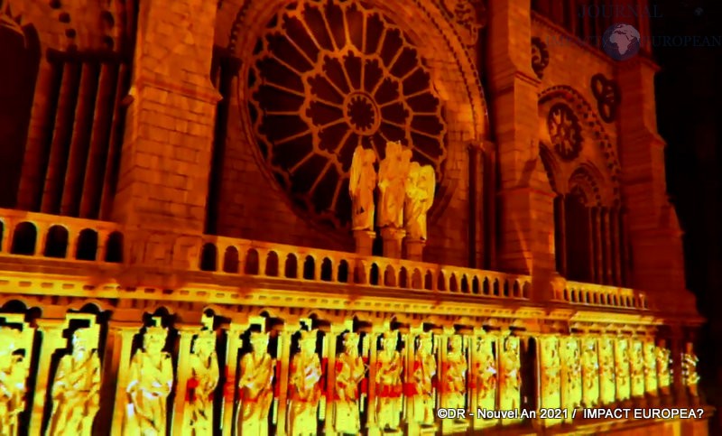
<instances>
[{"instance_id":1,"label":"dark red stone buttress at far right beside the black sky","mask_svg":"<svg viewBox=\"0 0 722 436\"><path fill-rule=\"evenodd\" d=\"M654 75L659 68L643 56L616 68L625 99L619 107L618 142L624 144L619 149L634 264L631 284L656 294L665 311L696 315L694 296L685 288L680 225L667 197L665 144L657 133Z\"/></svg>"}]
</instances>

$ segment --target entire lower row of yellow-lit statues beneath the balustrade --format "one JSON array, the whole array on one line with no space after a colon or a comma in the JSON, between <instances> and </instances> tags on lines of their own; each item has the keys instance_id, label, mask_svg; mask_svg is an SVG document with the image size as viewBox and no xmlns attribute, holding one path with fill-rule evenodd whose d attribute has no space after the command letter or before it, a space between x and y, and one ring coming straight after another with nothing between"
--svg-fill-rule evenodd
<instances>
[{"instance_id":1,"label":"entire lower row of yellow-lit statues beneath the balustrade","mask_svg":"<svg viewBox=\"0 0 722 436\"><path fill-rule=\"evenodd\" d=\"M168 398L177 389L174 360L166 351L168 329L159 318L153 322L143 333L142 346L125 362L125 400L116 404L116 413L123 413L124 435L170 431ZM0 434L19 434L20 417L29 411L33 333L0 327ZM328 342L319 340L325 339L319 338L319 330L301 329L298 348L286 363L272 357L268 332L250 332L248 339L251 347L239 360L237 385L232 386L238 392L233 426L237 435L273 434L272 422L285 425L291 436L316 435L326 416L322 406L332 408L333 421L326 425L340 434L362 431L364 418L393 434L405 424L434 428L437 407L513 410L521 406L520 339L514 335L387 329L381 335L365 333L361 340L361 334L347 329L329 368L320 356L319 344L328 346ZM375 340L373 349L369 343ZM670 394L670 350L652 339L541 335L538 340L542 407L597 407L641 395ZM51 415L44 434L92 434L100 407L98 342L97 325L74 330L69 352L60 357L51 377ZM218 427L214 408L220 403L214 401L214 394L222 386L217 343L212 320L206 320L187 359L184 434L210 434ZM369 360L375 365L369 366ZM697 357L690 349L682 355L681 366L688 392L696 396ZM279 385L282 370L288 371L286 386ZM333 371L330 378L329 371ZM333 384L327 384L329 379ZM285 416L277 422L281 388L286 389L288 402Z\"/></svg>"}]
</instances>

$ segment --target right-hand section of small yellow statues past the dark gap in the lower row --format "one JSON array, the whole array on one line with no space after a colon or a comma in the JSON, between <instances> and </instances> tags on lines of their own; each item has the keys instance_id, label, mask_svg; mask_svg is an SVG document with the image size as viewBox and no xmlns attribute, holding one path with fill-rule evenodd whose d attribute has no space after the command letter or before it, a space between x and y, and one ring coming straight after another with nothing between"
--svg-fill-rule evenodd
<instances>
[{"instance_id":1,"label":"right-hand section of small yellow statues past the dark gap in the lower row","mask_svg":"<svg viewBox=\"0 0 722 436\"><path fill-rule=\"evenodd\" d=\"M670 350L653 339L543 335L539 341L544 408L597 407L670 394ZM695 359L685 385L696 396L696 357L685 356Z\"/></svg>"}]
</instances>

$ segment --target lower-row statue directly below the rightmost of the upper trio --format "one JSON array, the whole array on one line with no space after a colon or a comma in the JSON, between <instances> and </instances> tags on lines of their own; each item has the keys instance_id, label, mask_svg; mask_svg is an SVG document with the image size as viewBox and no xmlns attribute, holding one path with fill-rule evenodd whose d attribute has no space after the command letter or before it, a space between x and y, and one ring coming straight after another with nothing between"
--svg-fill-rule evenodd
<instances>
[{"instance_id":1,"label":"lower-row statue directly below the rightmost of the upper trio","mask_svg":"<svg viewBox=\"0 0 722 436\"><path fill-rule=\"evenodd\" d=\"M413 417L421 425L433 425L436 408L436 389L434 377L436 376L436 356L433 351L433 336L431 332L421 333L418 337L418 347L413 358Z\"/></svg>"}]
</instances>

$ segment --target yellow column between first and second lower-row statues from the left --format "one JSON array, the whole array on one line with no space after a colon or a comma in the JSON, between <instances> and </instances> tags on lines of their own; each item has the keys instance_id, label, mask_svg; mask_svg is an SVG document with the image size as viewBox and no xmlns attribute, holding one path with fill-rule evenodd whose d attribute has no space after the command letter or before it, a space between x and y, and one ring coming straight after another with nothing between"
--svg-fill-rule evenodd
<instances>
[{"instance_id":1,"label":"yellow column between first and second lower-row statues from the left","mask_svg":"<svg viewBox=\"0 0 722 436\"><path fill-rule=\"evenodd\" d=\"M62 338L62 330L67 327L66 320L38 320L38 330L42 332L38 370L35 373L35 394L32 396L32 413L30 415L29 436L40 436L42 433L42 415L45 411L45 398L48 392L48 380L52 355L58 348L67 343Z\"/></svg>"}]
</instances>

